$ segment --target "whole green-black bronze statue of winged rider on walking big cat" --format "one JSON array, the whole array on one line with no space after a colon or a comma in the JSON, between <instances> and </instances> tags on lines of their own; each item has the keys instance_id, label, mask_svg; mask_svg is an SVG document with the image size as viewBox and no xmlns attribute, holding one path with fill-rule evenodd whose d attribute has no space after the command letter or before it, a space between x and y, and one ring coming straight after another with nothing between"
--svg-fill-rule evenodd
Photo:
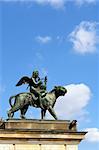
<instances>
[{"instance_id":1,"label":"whole green-black bronze statue of winged rider on walking big cat","mask_svg":"<svg viewBox=\"0 0 99 150\"><path fill-rule=\"evenodd\" d=\"M29 106L41 108L42 119L44 119L47 110L55 119L57 119L53 107L56 103L56 99L59 96L64 96L67 90L62 86L55 86L53 90L47 92L46 91L47 77L44 78L43 83L42 79L40 79L39 77L38 71L33 72L32 78L29 78L27 76L22 77L20 81L16 84L16 86L20 86L23 83L24 84L28 83L30 91L10 97L9 103L11 109L8 111L9 119L13 118L14 112L18 110L20 110L21 112L20 117L25 118L25 114ZM14 103L12 104L13 99Z\"/></svg>"}]
</instances>

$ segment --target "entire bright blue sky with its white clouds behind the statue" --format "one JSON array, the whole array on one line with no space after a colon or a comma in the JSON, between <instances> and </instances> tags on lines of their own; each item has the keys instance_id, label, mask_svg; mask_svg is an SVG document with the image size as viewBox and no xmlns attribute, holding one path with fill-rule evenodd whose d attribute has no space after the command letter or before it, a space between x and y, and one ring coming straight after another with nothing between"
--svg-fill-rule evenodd
<instances>
[{"instance_id":1,"label":"entire bright blue sky with its white clouds behind the statue","mask_svg":"<svg viewBox=\"0 0 99 150\"><path fill-rule=\"evenodd\" d=\"M15 87L18 80L38 69L48 91L67 88L55 110L89 131L80 150L99 149L98 8L98 0L0 0L0 117L7 118L11 95L27 91ZM39 110L31 115L39 118Z\"/></svg>"}]
</instances>

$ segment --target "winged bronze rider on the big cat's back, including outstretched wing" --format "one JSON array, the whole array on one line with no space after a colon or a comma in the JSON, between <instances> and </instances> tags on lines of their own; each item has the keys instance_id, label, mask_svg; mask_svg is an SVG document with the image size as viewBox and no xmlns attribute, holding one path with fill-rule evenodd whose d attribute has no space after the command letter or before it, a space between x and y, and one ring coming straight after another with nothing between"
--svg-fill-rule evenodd
<instances>
[{"instance_id":1,"label":"winged bronze rider on the big cat's back, including outstretched wing","mask_svg":"<svg viewBox=\"0 0 99 150\"><path fill-rule=\"evenodd\" d=\"M35 95L35 107L36 105L39 105L43 109L41 99L47 94L47 76L45 76L44 79L40 79L39 72L35 70L33 71L31 78L27 76L22 77L16 84L16 86L20 86L22 84L29 84L28 86L30 87L30 93Z\"/></svg>"}]
</instances>

